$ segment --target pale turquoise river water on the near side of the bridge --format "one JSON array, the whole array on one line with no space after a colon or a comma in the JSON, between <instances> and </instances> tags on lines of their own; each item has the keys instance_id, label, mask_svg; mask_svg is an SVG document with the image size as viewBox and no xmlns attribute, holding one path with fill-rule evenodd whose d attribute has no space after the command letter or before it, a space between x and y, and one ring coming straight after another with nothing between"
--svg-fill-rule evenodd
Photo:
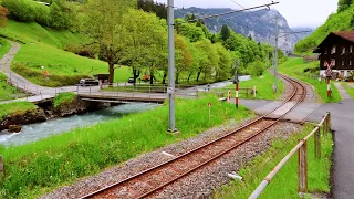
<instances>
[{"instance_id":1,"label":"pale turquoise river water on the near side of the bridge","mask_svg":"<svg viewBox=\"0 0 354 199\"><path fill-rule=\"evenodd\" d=\"M146 103L124 104L83 115L53 118L43 123L24 125L22 127L22 132L19 134L10 134L8 130L0 132L0 145L24 145L51 135L61 134L79 127L90 126L108 119L119 118L123 115L144 112L157 106L159 105Z\"/></svg>"}]
</instances>

